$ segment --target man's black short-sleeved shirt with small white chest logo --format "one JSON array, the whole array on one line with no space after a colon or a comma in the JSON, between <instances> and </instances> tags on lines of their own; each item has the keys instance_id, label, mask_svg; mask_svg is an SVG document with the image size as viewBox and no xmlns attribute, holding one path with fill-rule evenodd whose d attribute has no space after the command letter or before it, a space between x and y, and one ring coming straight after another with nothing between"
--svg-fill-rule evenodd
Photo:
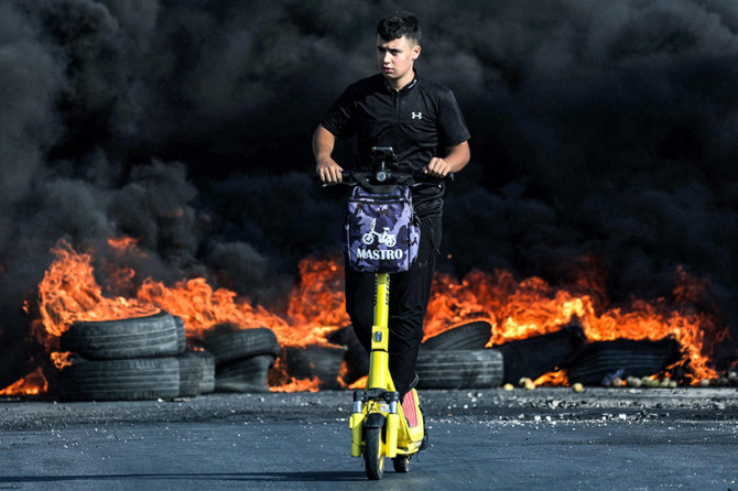
<instances>
[{"instance_id":1,"label":"man's black short-sleeved shirt with small white chest logo","mask_svg":"<svg viewBox=\"0 0 738 491\"><path fill-rule=\"evenodd\" d=\"M356 81L336 100L322 124L337 138L356 134L365 166L372 146L392 146L399 162L421 170L432 157L445 155L445 149L469 140L454 94L417 73L399 91L381 74ZM413 189L415 211L439 215L443 194L443 186Z\"/></svg>"}]
</instances>

